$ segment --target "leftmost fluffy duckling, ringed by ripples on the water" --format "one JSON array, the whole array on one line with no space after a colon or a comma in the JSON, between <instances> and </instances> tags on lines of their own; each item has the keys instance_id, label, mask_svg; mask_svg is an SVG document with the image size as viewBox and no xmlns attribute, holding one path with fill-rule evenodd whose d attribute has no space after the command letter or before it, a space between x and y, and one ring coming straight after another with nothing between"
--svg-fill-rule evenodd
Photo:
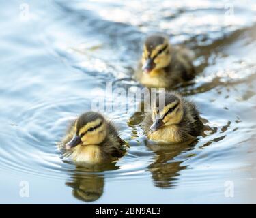
<instances>
[{"instance_id":1,"label":"leftmost fluffy duckling, ringed by ripples on the water","mask_svg":"<svg viewBox=\"0 0 256 218\"><path fill-rule=\"evenodd\" d=\"M111 163L126 153L110 121L97 112L85 112L76 119L60 143L64 156L76 163Z\"/></svg>"}]
</instances>

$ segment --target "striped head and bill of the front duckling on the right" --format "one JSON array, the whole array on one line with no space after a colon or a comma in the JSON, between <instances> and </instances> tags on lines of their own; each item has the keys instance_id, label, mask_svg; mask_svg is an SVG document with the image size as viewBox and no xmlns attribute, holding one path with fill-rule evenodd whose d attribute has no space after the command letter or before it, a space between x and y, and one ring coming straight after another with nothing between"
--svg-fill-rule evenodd
<instances>
[{"instance_id":1,"label":"striped head and bill of the front duckling on the right","mask_svg":"<svg viewBox=\"0 0 256 218\"><path fill-rule=\"evenodd\" d=\"M182 97L176 93L158 95L153 106L153 124L150 131L157 131L162 127L179 124L184 116Z\"/></svg>"}]
</instances>

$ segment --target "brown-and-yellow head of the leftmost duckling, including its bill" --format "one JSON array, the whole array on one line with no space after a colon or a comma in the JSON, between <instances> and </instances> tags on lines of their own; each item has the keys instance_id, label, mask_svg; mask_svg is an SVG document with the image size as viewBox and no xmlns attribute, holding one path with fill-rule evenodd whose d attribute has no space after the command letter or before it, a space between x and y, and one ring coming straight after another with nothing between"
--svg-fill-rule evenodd
<instances>
[{"instance_id":1,"label":"brown-and-yellow head of the leftmost duckling, including its bill","mask_svg":"<svg viewBox=\"0 0 256 218\"><path fill-rule=\"evenodd\" d=\"M66 149L71 149L79 144L97 145L104 141L107 135L106 120L97 112L86 112L76 119L74 124L75 134L66 144Z\"/></svg>"}]
</instances>

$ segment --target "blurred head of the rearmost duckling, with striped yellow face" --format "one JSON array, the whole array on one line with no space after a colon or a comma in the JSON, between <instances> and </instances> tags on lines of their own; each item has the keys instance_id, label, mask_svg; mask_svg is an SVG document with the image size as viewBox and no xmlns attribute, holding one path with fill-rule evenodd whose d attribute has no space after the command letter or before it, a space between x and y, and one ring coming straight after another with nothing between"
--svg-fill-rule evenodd
<instances>
[{"instance_id":1,"label":"blurred head of the rearmost duckling, with striped yellow face","mask_svg":"<svg viewBox=\"0 0 256 218\"><path fill-rule=\"evenodd\" d=\"M142 54L142 70L150 74L153 70L167 67L171 61L171 45L165 35L151 35L145 40Z\"/></svg>"}]
</instances>

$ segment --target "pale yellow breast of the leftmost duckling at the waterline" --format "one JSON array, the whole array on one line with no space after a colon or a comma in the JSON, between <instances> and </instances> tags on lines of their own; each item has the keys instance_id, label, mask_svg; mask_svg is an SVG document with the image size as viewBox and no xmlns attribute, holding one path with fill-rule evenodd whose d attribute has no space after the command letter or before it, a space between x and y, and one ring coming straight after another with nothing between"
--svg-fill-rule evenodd
<instances>
[{"instance_id":1,"label":"pale yellow breast of the leftmost duckling at the waterline","mask_svg":"<svg viewBox=\"0 0 256 218\"><path fill-rule=\"evenodd\" d=\"M104 163L108 161L109 155L102 151L102 148L97 145L87 145L87 146L76 146L71 155L74 162L83 163ZM109 160L110 161L110 160Z\"/></svg>"}]
</instances>

